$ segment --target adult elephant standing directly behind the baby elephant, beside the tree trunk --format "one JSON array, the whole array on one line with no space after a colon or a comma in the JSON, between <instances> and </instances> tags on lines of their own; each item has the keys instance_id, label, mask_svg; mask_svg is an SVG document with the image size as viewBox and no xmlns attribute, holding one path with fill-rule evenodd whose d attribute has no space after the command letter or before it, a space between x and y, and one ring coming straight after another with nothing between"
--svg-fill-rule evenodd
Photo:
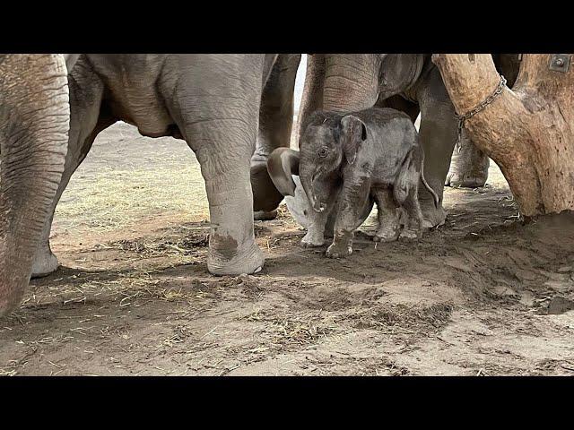
<instances>
[{"instance_id":1,"label":"adult elephant standing directly behind the baby elephant, beside the tree trunk","mask_svg":"<svg viewBox=\"0 0 574 430\"><path fill-rule=\"evenodd\" d=\"M512 67L511 64L511 70ZM439 70L431 62L431 55L309 56L300 106L299 134L305 129L310 114L316 110L344 113L373 106L402 110L413 121L421 113L420 140L426 154L425 176L440 201L436 208L431 193L423 186L419 187L423 227L443 224L447 215L442 207L443 186L457 141L457 120ZM463 148L466 147L463 142ZM484 159L483 154L474 152L474 155ZM475 160L471 162L473 165L476 163ZM298 204L303 207L305 202ZM309 220L309 224L316 223Z\"/></svg>"}]
</instances>

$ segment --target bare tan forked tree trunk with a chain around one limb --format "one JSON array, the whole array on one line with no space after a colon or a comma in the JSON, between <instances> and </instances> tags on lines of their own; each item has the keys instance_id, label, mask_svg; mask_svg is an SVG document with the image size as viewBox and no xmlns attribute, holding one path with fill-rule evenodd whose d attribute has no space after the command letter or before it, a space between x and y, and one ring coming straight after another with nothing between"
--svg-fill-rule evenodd
<instances>
[{"instance_id":1,"label":"bare tan forked tree trunk with a chain around one limb","mask_svg":"<svg viewBox=\"0 0 574 430\"><path fill-rule=\"evenodd\" d=\"M476 146L496 161L526 216L574 210L574 64L525 54L512 90L465 121ZM458 115L477 107L500 77L484 54L435 54Z\"/></svg>"}]
</instances>

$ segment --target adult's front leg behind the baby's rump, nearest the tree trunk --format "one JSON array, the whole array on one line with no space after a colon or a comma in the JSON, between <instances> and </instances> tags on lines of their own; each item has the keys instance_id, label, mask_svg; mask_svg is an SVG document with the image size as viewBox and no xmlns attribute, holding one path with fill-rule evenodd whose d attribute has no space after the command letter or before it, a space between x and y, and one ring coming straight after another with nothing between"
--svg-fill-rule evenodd
<instances>
[{"instance_id":1,"label":"adult's front leg behind the baby's rump, nearest the tree trunk","mask_svg":"<svg viewBox=\"0 0 574 430\"><path fill-rule=\"evenodd\" d=\"M421 82L417 99L421 107L419 136L424 150L424 176L439 196L437 208L431 193L422 183L419 184L422 227L432 228L444 224L447 218L442 197L452 151L457 142L457 120L438 69L433 69Z\"/></svg>"}]
</instances>

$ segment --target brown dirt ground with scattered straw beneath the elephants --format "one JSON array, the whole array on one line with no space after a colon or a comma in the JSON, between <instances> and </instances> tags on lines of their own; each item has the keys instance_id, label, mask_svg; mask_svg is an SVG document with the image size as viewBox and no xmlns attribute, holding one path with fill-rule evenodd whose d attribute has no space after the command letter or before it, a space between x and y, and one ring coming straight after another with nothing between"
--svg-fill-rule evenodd
<instances>
[{"instance_id":1,"label":"brown dirt ground with scattered straw beneath the elephants","mask_svg":"<svg viewBox=\"0 0 574 430\"><path fill-rule=\"evenodd\" d=\"M256 223L256 276L206 271L204 183L185 142L117 124L57 209L62 267L0 321L0 374L574 374L574 222L518 218L508 185L446 191L445 226L342 261Z\"/></svg>"}]
</instances>

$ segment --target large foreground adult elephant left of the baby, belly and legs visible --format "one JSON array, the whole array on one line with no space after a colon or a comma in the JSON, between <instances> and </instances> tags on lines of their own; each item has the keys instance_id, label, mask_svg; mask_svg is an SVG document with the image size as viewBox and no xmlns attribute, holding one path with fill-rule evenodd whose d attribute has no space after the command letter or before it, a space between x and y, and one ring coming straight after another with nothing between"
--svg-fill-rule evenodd
<instances>
[{"instance_id":1,"label":"large foreground adult elephant left of the baby, belly and legs visible","mask_svg":"<svg viewBox=\"0 0 574 430\"><path fill-rule=\"evenodd\" d=\"M264 214L273 211L269 202L277 200L277 194L283 198L260 165L263 162L265 167L265 154L274 146L289 145L285 136L291 133L291 123L285 125L281 119L292 118L292 90L291 114L285 101L289 91L274 90L289 84L274 83L267 90L265 83L291 82L289 75L296 64L294 85L299 59L298 55L275 54L71 58L71 63L76 61L67 80L70 131L64 146L65 168L61 178L50 181L57 188L55 193L46 194L50 200L48 217L39 228L39 242L35 242L39 246L33 274L41 276L57 269L57 258L49 246L57 202L98 133L118 120L137 126L144 136L184 139L195 151L211 218L208 270L217 275L259 271L264 258L255 243L254 210ZM283 106L285 103L288 106ZM262 131L257 140L259 123ZM22 195L24 202L31 199ZM26 226L25 214L21 217L21 226ZM17 262L23 257L13 254L10 258ZM29 259L29 254L25 258ZM30 271L27 273L30 277ZM22 292L28 282L23 278L6 282L2 288Z\"/></svg>"}]
</instances>

